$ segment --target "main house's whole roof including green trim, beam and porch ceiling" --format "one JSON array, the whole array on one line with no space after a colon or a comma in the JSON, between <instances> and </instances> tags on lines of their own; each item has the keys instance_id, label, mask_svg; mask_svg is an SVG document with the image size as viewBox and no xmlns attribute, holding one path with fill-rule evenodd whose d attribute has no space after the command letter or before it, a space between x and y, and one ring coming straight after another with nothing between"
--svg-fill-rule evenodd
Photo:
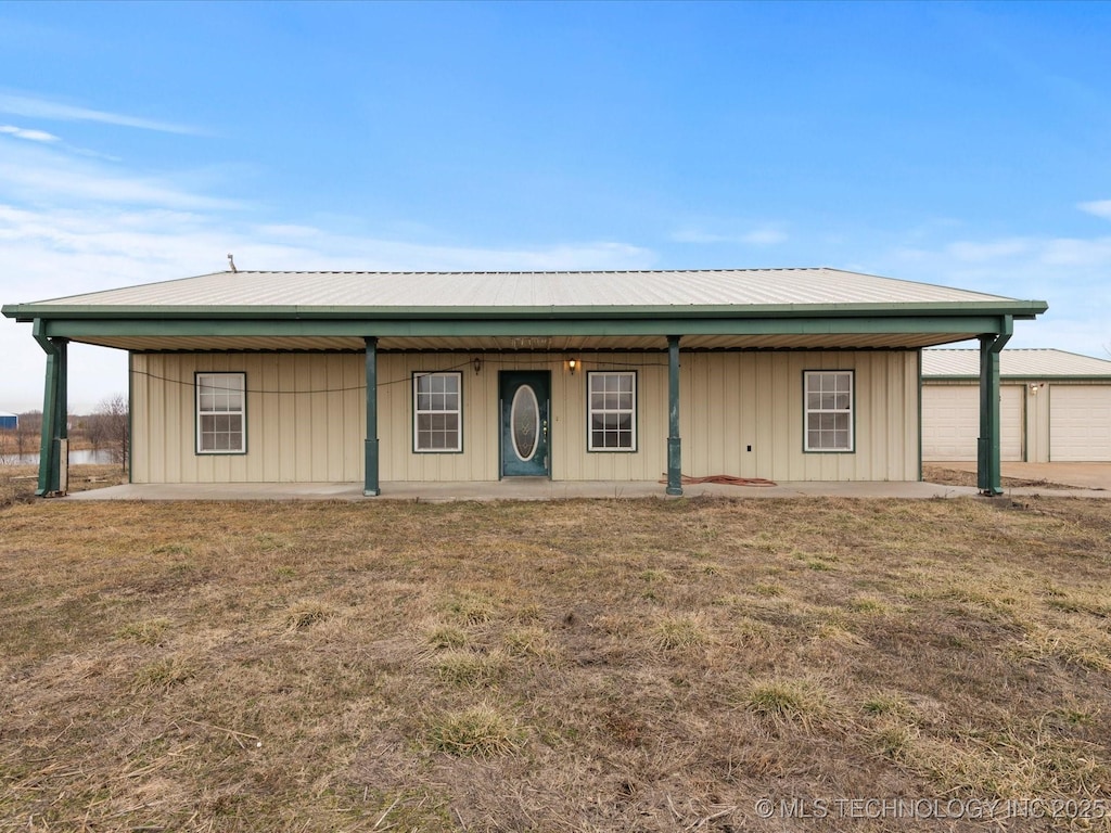
<instances>
[{"instance_id":1,"label":"main house's whole roof including green trim, beam and porch ceiling","mask_svg":"<svg viewBox=\"0 0 1111 833\"><path fill-rule=\"evenodd\" d=\"M36 337L123 350L918 349L1044 301L839 269L217 272L9 304ZM527 343L526 343L527 342Z\"/></svg>"}]
</instances>

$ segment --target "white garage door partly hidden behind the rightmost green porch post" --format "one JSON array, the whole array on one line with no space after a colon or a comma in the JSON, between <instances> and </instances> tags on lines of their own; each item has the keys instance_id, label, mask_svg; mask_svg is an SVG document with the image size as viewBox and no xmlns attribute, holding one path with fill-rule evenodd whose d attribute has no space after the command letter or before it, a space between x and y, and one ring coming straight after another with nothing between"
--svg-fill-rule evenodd
<instances>
[{"instance_id":1,"label":"white garage door partly hidden behind the rightmost green porch post","mask_svg":"<svg viewBox=\"0 0 1111 833\"><path fill-rule=\"evenodd\" d=\"M999 389L999 453L1022 460L1021 385ZM980 436L980 389L973 385L922 385L922 459L975 460Z\"/></svg>"}]
</instances>

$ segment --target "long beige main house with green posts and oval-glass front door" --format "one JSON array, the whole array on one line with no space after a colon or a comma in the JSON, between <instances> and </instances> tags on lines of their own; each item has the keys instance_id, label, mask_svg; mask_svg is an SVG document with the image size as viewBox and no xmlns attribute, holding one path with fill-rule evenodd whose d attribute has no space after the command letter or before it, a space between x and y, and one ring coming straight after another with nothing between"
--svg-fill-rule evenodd
<instances>
[{"instance_id":1,"label":"long beige main house with green posts and oval-glass front door","mask_svg":"<svg viewBox=\"0 0 1111 833\"><path fill-rule=\"evenodd\" d=\"M3 307L47 353L127 350L136 483L918 480L922 348L979 339L981 489L998 355L1044 301L835 269L219 272ZM662 486L661 486L662 488Z\"/></svg>"}]
</instances>

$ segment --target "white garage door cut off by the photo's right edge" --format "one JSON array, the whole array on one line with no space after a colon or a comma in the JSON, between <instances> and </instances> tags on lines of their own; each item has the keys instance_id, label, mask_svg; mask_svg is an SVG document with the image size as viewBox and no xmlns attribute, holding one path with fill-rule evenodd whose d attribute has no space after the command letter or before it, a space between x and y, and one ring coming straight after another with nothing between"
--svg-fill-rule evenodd
<instances>
[{"instance_id":1,"label":"white garage door cut off by the photo's right edge","mask_svg":"<svg viewBox=\"0 0 1111 833\"><path fill-rule=\"evenodd\" d=\"M1111 461L1111 385L1050 389L1049 459Z\"/></svg>"}]
</instances>

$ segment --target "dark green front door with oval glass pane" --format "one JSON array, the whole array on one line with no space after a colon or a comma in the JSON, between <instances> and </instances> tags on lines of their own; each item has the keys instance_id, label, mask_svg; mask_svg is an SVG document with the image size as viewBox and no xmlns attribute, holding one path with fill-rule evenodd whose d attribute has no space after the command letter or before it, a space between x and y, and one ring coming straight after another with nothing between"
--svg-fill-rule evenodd
<instances>
[{"instance_id":1,"label":"dark green front door with oval glass pane","mask_svg":"<svg viewBox=\"0 0 1111 833\"><path fill-rule=\"evenodd\" d=\"M498 374L501 399L501 476L550 476L546 370L503 370Z\"/></svg>"}]
</instances>

